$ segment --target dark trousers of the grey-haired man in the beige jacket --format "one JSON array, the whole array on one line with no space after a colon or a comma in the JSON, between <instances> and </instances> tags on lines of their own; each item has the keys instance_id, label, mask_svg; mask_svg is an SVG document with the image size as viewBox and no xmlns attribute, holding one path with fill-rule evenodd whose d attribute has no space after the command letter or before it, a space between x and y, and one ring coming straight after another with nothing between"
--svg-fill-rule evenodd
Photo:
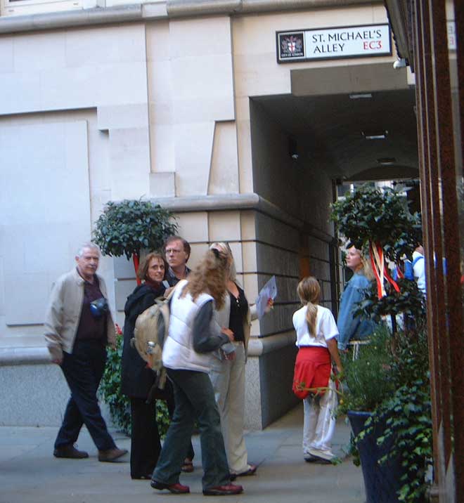
<instances>
[{"instance_id":1,"label":"dark trousers of the grey-haired man in the beige jacket","mask_svg":"<svg viewBox=\"0 0 464 503\"><path fill-rule=\"evenodd\" d=\"M106 348L100 341L76 341L72 354L63 353L61 370L70 387L71 398L55 440L55 448L75 443L82 424L86 425L98 450L115 448L96 398L105 362Z\"/></svg>"}]
</instances>

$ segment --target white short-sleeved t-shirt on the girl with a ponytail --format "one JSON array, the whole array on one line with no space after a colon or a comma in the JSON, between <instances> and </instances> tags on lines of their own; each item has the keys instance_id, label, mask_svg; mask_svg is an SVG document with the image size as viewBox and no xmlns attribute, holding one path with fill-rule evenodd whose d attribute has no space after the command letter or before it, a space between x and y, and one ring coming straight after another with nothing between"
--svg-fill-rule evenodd
<instances>
[{"instance_id":1,"label":"white short-sleeved t-shirt on the girl with a ponytail","mask_svg":"<svg viewBox=\"0 0 464 503\"><path fill-rule=\"evenodd\" d=\"M335 318L328 308L323 306L317 306L316 315L316 334L318 338L314 335L309 334L308 322L306 320L307 306L302 307L298 311L293 313L293 326L297 332L297 342L296 345L299 346L321 346L323 348L327 347L326 341L337 337L338 329Z\"/></svg>"}]
</instances>

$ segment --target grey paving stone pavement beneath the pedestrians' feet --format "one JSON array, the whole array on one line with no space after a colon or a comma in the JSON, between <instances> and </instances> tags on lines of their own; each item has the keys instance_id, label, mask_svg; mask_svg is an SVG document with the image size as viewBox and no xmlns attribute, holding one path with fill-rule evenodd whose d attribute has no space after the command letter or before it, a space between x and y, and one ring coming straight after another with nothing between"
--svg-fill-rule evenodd
<instances>
[{"instance_id":1,"label":"grey paving stone pavement beneath the pedestrians' feet","mask_svg":"<svg viewBox=\"0 0 464 503\"><path fill-rule=\"evenodd\" d=\"M118 463L101 463L86 429L78 440L88 459L56 459L52 427L0 426L0 503L363 503L361 469L342 448L349 441L349 426L337 422L334 452L341 464L319 465L302 459L303 412L295 407L264 431L246 434L250 462L259 464L256 476L238 478L245 492L238 496L205 497L201 490L201 455L193 438L195 471L181 476L190 495L172 495L150 488L148 481L132 481L129 455ZM112 432L120 448L130 440Z\"/></svg>"}]
</instances>

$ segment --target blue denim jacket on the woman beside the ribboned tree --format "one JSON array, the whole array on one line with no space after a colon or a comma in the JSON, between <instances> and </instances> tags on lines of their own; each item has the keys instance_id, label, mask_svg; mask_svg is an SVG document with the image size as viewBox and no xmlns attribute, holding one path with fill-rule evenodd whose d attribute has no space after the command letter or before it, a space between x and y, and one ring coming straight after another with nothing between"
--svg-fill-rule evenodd
<instances>
[{"instance_id":1,"label":"blue denim jacket on the woman beside the ribboned tree","mask_svg":"<svg viewBox=\"0 0 464 503\"><path fill-rule=\"evenodd\" d=\"M337 320L340 350L346 349L351 339L366 339L374 331L375 324L372 320L353 315L359 308L357 303L365 299L365 290L369 287L370 281L362 273L354 273L352 279L344 287Z\"/></svg>"}]
</instances>

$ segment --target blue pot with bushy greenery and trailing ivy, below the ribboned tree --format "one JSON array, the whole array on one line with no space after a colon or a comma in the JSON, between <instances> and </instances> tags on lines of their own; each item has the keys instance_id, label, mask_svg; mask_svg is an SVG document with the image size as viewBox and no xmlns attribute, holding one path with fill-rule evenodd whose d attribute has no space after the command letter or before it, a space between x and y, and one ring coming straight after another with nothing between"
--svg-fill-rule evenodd
<instances>
[{"instance_id":1,"label":"blue pot with bushy greenery and trailing ivy, below the ribboned tree","mask_svg":"<svg viewBox=\"0 0 464 503\"><path fill-rule=\"evenodd\" d=\"M427 336L399 331L394 340L380 327L357 360L344 361L339 413L352 426L368 503L423 502L432 463Z\"/></svg>"}]
</instances>

